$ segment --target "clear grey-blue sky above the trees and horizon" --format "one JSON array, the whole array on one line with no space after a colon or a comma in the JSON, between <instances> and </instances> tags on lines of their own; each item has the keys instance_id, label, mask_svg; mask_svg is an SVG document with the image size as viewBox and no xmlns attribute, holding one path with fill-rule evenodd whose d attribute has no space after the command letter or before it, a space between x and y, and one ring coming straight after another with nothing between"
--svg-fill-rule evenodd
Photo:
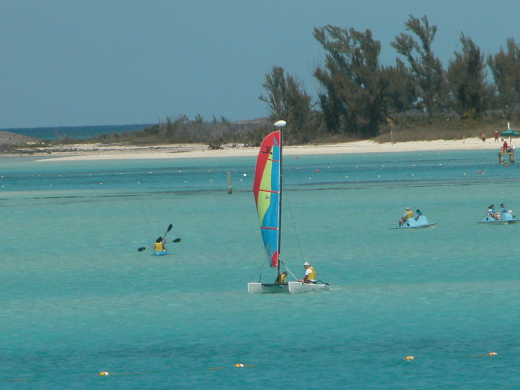
<instances>
[{"instance_id":1,"label":"clear grey-blue sky above the trees and horizon","mask_svg":"<svg viewBox=\"0 0 520 390\"><path fill-rule=\"evenodd\" d=\"M260 118L273 66L316 96L314 27L370 29L390 65L409 15L445 66L461 32L486 55L520 43L520 0L0 0L0 128Z\"/></svg>"}]
</instances>

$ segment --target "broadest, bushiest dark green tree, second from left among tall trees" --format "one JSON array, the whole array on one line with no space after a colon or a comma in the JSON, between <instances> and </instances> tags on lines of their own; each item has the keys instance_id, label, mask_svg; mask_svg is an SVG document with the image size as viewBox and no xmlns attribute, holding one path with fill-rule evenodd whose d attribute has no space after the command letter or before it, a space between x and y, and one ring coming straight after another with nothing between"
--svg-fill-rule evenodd
<instances>
[{"instance_id":1,"label":"broadest, bushiest dark green tree, second from left among tall trees","mask_svg":"<svg viewBox=\"0 0 520 390\"><path fill-rule=\"evenodd\" d=\"M332 25L315 28L314 37L327 51L323 68L313 74L322 86L319 102L328 131L359 138L378 135L389 83L379 65L381 43L370 30Z\"/></svg>"}]
</instances>

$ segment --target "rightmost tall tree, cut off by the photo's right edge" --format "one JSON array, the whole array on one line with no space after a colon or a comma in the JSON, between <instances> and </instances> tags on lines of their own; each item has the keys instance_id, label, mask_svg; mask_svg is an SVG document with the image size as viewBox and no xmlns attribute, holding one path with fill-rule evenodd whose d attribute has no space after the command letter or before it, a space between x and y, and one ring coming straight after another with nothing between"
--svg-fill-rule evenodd
<instances>
[{"instance_id":1,"label":"rightmost tall tree, cut off by the photo's right edge","mask_svg":"<svg viewBox=\"0 0 520 390\"><path fill-rule=\"evenodd\" d=\"M508 38L508 51L501 47L499 53L488 56L487 63L495 79L499 105L520 103L520 45Z\"/></svg>"}]
</instances>

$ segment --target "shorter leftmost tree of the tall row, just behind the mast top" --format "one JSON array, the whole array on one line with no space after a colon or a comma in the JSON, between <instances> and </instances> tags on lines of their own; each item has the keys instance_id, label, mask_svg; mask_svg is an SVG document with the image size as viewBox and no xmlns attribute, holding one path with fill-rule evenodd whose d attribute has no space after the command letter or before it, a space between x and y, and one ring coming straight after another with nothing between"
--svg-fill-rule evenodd
<instances>
[{"instance_id":1,"label":"shorter leftmost tree of the tall row, just behind the mast top","mask_svg":"<svg viewBox=\"0 0 520 390\"><path fill-rule=\"evenodd\" d=\"M276 66L265 79L262 86L267 95L260 95L259 99L268 104L270 119L287 121L286 142L307 143L313 136L313 108L303 83Z\"/></svg>"}]
</instances>

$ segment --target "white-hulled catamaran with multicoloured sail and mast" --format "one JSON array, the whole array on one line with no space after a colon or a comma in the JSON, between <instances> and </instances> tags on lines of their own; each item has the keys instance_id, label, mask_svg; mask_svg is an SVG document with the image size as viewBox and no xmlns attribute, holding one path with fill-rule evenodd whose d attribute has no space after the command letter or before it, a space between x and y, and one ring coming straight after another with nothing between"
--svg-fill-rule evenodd
<instances>
[{"instance_id":1,"label":"white-hulled catamaran with multicoloured sail and mast","mask_svg":"<svg viewBox=\"0 0 520 390\"><path fill-rule=\"evenodd\" d=\"M278 121L275 126L284 127L285 121ZM276 267L276 280L280 276L280 241L281 241L281 204L282 204L282 132L277 130L264 138L256 159L253 193L260 220L260 229L265 250L271 267ZM289 293L298 294L310 291L327 291L327 283L303 283L291 281L285 283L249 282L250 293Z\"/></svg>"}]
</instances>

